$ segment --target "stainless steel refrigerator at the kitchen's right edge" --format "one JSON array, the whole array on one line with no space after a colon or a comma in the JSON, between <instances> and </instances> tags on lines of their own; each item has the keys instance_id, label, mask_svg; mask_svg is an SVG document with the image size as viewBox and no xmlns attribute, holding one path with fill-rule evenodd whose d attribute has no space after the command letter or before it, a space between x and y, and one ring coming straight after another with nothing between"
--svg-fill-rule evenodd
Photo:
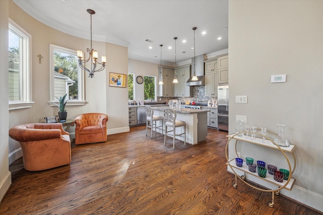
<instances>
[{"instance_id":1,"label":"stainless steel refrigerator at the kitchen's right edge","mask_svg":"<svg viewBox=\"0 0 323 215\"><path fill-rule=\"evenodd\" d=\"M218 86L218 130L229 130L229 86Z\"/></svg>"}]
</instances>

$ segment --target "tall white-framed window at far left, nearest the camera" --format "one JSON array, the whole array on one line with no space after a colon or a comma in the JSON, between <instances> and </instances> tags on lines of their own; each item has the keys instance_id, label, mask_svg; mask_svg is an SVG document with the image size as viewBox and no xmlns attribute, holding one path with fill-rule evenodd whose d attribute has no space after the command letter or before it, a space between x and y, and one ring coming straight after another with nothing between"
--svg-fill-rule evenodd
<instances>
[{"instance_id":1,"label":"tall white-framed window at far left, nearest the camera","mask_svg":"<svg viewBox=\"0 0 323 215\"><path fill-rule=\"evenodd\" d=\"M9 20L9 110L30 108L31 35Z\"/></svg>"}]
</instances>

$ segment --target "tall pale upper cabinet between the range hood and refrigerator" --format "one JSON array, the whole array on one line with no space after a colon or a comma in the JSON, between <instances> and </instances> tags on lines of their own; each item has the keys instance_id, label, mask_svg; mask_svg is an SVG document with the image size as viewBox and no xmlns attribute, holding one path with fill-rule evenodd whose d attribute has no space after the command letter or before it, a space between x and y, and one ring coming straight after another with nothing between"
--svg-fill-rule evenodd
<instances>
[{"instance_id":1,"label":"tall pale upper cabinet between the range hood and refrigerator","mask_svg":"<svg viewBox=\"0 0 323 215\"><path fill-rule=\"evenodd\" d=\"M218 60L204 61L205 69L205 96L218 96Z\"/></svg>"}]
</instances>

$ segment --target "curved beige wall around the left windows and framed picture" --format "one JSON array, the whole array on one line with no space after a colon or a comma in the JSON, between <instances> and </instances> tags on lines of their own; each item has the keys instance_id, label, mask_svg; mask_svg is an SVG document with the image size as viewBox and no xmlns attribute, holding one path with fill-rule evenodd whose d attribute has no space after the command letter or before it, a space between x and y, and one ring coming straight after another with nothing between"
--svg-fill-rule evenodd
<instances>
[{"instance_id":1,"label":"curved beige wall around the left windows and framed picture","mask_svg":"<svg viewBox=\"0 0 323 215\"><path fill-rule=\"evenodd\" d=\"M9 128L11 128L22 123L43 122L45 116L57 115L57 107L48 104L49 44L85 51L90 46L90 41L62 33L38 22L12 1L9 2L9 18L32 36L32 98L35 102L31 108L10 111ZM93 79L88 78L88 74L85 74L86 104L80 106L67 105L68 119L74 119L77 115L86 112L106 113L109 116L107 133L129 131L128 115L124 114L128 113L128 111L125 111L125 104L128 104L127 88L116 89L107 84L111 71L122 74L128 73L128 49L127 47L97 41L93 41L92 46L98 51L99 59L102 55L106 56L107 66L103 71L95 73ZM38 63L38 54L43 56L41 64ZM118 99L114 100L113 107L107 105L116 97ZM118 116L118 118L114 116ZM74 129L75 127L71 127L70 132L73 133ZM19 143L9 138L9 154L12 161L21 156L19 148ZM11 154L13 152L15 153Z\"/></svg>"}]
</instances>

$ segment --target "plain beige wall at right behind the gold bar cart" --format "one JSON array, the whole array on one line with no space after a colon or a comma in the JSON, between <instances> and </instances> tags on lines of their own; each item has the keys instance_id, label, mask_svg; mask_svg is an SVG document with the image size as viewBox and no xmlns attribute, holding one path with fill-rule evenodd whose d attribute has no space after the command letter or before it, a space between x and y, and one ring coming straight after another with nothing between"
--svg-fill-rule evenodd
<instances>
[{"instance_id":1,"label":"plain beige wall at right behind the gold bar cart","mask_svg":"<svg viewBox=\"0 0 323 215\"><path fill-rule=\"evenodd\" d=\"M284 195L323 211L323 1L229 2L229 133L235 115L249 125L278 132L296 145L296 179ZM271 75L287 75L286 83L270 83ZM247 95L248 104L235 96ZM277 162L270 150L244 156ZM248 154L249 153L249 154ZM232 150L231 150L232 154ZM269 200L269 199L268 199Z\"/></svg>"}]
</instances>

